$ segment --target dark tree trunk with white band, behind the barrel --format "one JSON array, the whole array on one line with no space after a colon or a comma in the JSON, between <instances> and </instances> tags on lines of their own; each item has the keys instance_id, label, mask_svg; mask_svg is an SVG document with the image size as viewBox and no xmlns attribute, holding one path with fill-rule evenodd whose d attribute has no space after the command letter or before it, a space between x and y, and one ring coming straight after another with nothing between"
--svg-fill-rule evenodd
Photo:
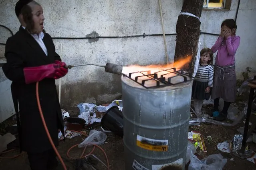
<instances>
[{"instance_id":1,"label":"dark tree trunk with white band, behind the barrel","mask_svg":"<svg viewBox=\"0 0 256 170\"><path fill-rule=\"evenodd\" d=\"M181 12L189 12L201 17L204 0L184 0ZM201 22L198 18L187 15L180 15L176 25L176 47L174 62L191 56L191 61L182 69L193 73L198 51L198 39L200 37Z\"/></svg>"}]
</instances>

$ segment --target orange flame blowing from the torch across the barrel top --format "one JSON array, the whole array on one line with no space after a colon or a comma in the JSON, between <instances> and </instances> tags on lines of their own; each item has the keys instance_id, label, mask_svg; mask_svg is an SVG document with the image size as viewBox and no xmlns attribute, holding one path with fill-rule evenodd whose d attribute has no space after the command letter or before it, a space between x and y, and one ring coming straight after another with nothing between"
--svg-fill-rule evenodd
<instances>
[{"instance_id":1,"label":"orange flame blowing from the torch across the barrel top","mask_svg":"<svg viewBox=\"0 0 256 170\"><path fill-rule=\"evenodd\" d=\"M175 63L171 64L159 64L159 65L129 65L126 67L123 67L123 74L129 75L129 73L138 72L138 71L151 71L152 73L155 73L157 71L162 71L165 69L171 69L175 67L177 70L183 67L185 64L189 63L191 61L191 56L186 57L185 59L182 59L180 61L176 61Z\"/></svg>"}]
</instances>

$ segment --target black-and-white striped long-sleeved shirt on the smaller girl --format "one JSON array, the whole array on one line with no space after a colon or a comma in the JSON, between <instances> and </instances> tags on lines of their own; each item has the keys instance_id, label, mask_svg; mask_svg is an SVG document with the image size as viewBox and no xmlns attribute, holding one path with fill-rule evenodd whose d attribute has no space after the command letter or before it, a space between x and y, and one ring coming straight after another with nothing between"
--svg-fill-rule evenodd
<instances>
[{"instance_id":1,"label":"black-and-white striped long-sleeved shirt on the smaller girl","mask_svg":"<svg viewBox=\"0 0 256 170\"><path fill-rule=\"evenodd\" d=\"M196 81L208 82L208 87L213 85L213 67L209 65L199 65L198 71L196 72Z\"/></svg>"}]
</instances>

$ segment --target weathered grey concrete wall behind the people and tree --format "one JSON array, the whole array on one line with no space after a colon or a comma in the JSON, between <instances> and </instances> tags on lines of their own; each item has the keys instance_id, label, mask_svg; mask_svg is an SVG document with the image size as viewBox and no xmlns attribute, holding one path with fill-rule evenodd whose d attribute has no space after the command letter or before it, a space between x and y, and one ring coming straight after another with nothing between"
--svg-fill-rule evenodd
<instances>
[{"instance_id":1,"label":"weathered grey concrete wall behind the people and tree","mask_svg":"<svg viewBox=\"0 0 256 170\"><path fill-rule=\"evenodd\" d=\"M16 0L0 2L0 24L13 32L19 28L14 14ZM162 34L158 0L38 0L44 9L45 29L52 37L85 37L92 32L99 36L130 36L138 34ZM201 17L202 32L219 34L222 20L235 18L238 0L232 0L231 10L204 10ZM181 0L162 0L165 33L175 33ZM236 53L238 78L245 67L255 69L256 53L256 1L242 0L238 12L237 35L241 44ZM10 33L0 28L0 42L6 42ZM201 47L211 47L218 36L201 35ZM167 36L169 61L173 61L175 36ZM107 62L127 64L165 63L162 36L139 38L111 38L89 40L54 40L56 50L67 64ZM3 55L3 46L0 53ZM1 54L0 54L1 55ZM94 66L69 70L61 80L61 103L64 107L76 107L80 102L104 103L121 95L120 77L105 73ZM58 84L58 81L56 81Z\"/></svg>"}]
</instances>

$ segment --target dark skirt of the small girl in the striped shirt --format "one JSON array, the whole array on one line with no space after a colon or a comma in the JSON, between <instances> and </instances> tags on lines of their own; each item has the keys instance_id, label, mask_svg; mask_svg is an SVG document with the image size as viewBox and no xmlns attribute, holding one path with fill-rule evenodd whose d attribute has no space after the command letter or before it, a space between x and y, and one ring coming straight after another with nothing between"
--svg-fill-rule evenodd
<instances>
[{"instance_id":1,"label":"dark skirt of the small girl in the striped shirt","mask_svg":"<svg viewBox=\"0 0 256 170\"><path fill-rule=\"evenodd\" d=\"M209 100L211 93L205 93L208 82L194 81L192 87L192 97L198 100Z\"/></svg>"}]
</instances>

